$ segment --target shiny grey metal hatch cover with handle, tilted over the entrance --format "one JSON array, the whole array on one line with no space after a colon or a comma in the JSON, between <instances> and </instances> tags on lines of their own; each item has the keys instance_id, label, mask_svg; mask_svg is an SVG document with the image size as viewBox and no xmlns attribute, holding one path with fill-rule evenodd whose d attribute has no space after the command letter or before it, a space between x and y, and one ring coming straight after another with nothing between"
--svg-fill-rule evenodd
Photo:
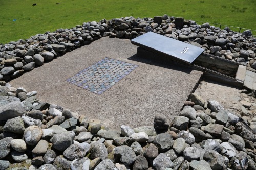
<instances>
[{"instance_id":1,"label":"shiny grey metal hatch cover with handle, tilted over the entrance","mask_svg":"<svg viewBox=\"0 0 256 170\"><path fill-rule=\"evenodd\" d=\"M148 32L131 40L137 46L155 53L167 54L191 64L204 49L157 33Z\"/></svg>"}]
</instances>

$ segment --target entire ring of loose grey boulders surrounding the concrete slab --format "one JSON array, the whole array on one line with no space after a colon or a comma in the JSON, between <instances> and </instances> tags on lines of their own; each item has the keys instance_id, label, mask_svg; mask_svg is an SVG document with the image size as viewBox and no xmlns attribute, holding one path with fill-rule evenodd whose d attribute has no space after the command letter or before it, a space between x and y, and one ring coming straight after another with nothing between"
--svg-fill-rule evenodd
<instances>
[{"instance_id":1,"label":"entire ring of loose grey boulders surrounding the concrete slab","mask_svg":"<svg viewBox=\"0 0 256 170\"><path fill-rule=\"evenodd\" d=\"M8 81L102 36L132 39L147 31L202 44L209 53L219 44L214 54L230 55L232 60L250 63L255 58L250 31L235 33L194 21L184 21L178 29L180 20L164 15L93 21L10 42L0 47L0 73ZM225 45L218 42L221 38ZM256 169L255 131L240 114L195 93L173 120L157 114L152 126L122 125L118 132L98 119L39 101L36 91L5 81L0 85L0 169Z\"/></svg>"}]
</instances>

